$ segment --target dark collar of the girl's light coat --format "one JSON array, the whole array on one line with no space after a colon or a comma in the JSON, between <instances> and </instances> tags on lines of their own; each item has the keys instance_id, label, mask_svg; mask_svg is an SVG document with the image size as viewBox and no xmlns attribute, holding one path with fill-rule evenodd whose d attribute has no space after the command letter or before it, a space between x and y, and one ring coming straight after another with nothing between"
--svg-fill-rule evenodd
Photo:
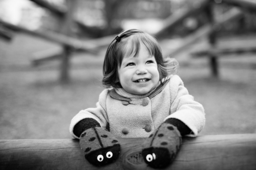
<instances>
[{"instance_id":1,"label":"dark collar of the girl's light coat","mask_svg":"<svg viewBox=\"0 0 256 170\"><path fill-rule=\"evenodd\" d=\"M169 79L166 80L163 84L160 83L160 85L151 94L149 94L148 98L151 99L152 97L154 97L157 94L159 94L163 90L163 88L165 88L165 86L168 84L168 82L169 82ZM112 98L117 99L117 100L127 101L127 102L131 102L132 101L128 97L124 97L124 96L121 96L121 95L117 94L115 89L113 89L113 88L109 91L109 95Z\"/></svg>"}]
</instances>

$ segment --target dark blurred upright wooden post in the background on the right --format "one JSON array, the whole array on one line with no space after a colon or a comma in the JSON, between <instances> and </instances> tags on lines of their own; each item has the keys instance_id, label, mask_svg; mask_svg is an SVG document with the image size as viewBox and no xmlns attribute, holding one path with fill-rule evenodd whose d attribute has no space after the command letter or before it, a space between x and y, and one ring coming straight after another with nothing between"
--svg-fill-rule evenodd
<instances>
[{"instance_id":1,"label":"dark blurred upright wooden post in the background on the right","mask_svg":"<svg viewBox=\"0 0 256 170\"><path fill-rule=\"evenodd\" d=\"M209 20L210 25L212 25L212 27L214 27L215 25L215 21L214 21L214 15L213 15L213 6L211 3L209 3L209 5L206 8L206 16ZM216 30L212 29L211 33L208 35L208 39L209 39L209 44L210 44L210 48L216 48ZM209 63L210 63L210 67L211 67L211 71L212 71L212 75L214 77L218 77L218 58L216 56L216 54L209 54Z\"/></svg>"}]
</instances>

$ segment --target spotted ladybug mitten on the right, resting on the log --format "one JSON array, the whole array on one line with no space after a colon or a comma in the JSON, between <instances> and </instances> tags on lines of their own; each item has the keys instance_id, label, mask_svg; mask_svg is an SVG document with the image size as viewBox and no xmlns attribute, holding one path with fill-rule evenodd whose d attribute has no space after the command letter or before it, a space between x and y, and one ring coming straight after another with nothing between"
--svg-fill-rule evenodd
<instances>
[{"instance_id":1,"label":"spotted ladybug mitten on the right, resting on the log","mask_svg":"<svg viewBox=\"0 0 256 170\"><path fill-rule=\"evenodd\" d=\"M164 122L145 140L142 155L150 167L164 168L174 160L180 144L177 127Z\"/></svg>"}]
</instances>

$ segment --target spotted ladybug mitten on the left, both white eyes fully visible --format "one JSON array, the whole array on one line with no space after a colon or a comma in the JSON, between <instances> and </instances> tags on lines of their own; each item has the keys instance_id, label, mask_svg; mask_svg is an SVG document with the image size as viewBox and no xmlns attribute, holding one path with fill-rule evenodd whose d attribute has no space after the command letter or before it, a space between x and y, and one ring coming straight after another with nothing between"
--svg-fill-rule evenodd
<instances>
[{"instance_id":1,"label":"spotted ladybug mitten on the left, both white eyes fully visible","mask_svg":"<svg viewBox=\"0 0 256 170\"><path fill-rule=\"evenodd\" d=\"M80 147L85 159L97 167L112 163L120 153L119 142L103 127L92 127L81 133Z\"/></svg>"}]
</instances>

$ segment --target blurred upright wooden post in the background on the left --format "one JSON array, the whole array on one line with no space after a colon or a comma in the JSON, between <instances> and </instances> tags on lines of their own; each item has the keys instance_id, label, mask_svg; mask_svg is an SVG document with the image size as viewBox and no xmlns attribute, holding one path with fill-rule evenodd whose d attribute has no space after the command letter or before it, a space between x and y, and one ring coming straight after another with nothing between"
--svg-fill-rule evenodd
<instances>
[{"instance_id":1,"label":"blurred upright wooden post in the background on the left","mask_svg":"<svg viewBox=\"0 0 256 170\"><path fill-rule=\"evenodd\" d=\"M67 13L63 17L63 23L61 24L60 33L72 37L71 26L73 24L73 14L76 8L77 0L66 0ZM63 56L61 63L60 81L63 83L69 82L69 67L70 67L70 55L73 49L70 46L63 45Z\"/></svg>"}]
</instances>

